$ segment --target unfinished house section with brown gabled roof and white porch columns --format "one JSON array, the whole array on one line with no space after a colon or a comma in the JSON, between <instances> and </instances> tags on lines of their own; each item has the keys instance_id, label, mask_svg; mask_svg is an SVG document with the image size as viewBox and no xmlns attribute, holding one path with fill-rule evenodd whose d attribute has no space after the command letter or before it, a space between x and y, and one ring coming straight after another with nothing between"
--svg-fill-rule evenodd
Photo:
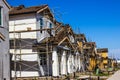
<instances>
[{"instance_id":1,"label":"unfinished house section with brown gabled roof and white porch columns","mask_svg":"<svg viewBox=\"0 0 120 80\"><path fill-rule=\"evenodd\" d=\"M80 71L80 51L74 43L75 39L71 27L61 25L55 28L55 36L45 38L34 47L41 53L49 51L48 63L50 64L48 66L52 70L52 76L60 76ZM46 48L46 44L48 48Z\"/></svg>"}]
</instances>

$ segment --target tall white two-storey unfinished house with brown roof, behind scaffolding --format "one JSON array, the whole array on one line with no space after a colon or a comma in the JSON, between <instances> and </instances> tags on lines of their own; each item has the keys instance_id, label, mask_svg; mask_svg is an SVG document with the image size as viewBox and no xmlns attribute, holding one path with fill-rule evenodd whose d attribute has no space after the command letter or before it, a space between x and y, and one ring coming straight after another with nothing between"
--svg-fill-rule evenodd
<instances>
[{"instance_id":1,"label":"tall white two-storey unfinished house with brown roof, behind scaffolding","mask_svg":"<svg viewBox=\"0 0 120 80\"><path fill-rule=\"evenodd\" d=\"M32 46L54 35L54 17L47 5L13 7L10 12L10 53L12 77L40 76L47 73L46 55L33 51ZM49 34L49 32L51 33ZM40 62L42 57L42 62ZM45 71L44 71L45 68Z\"/></svg>"}]
</instances>

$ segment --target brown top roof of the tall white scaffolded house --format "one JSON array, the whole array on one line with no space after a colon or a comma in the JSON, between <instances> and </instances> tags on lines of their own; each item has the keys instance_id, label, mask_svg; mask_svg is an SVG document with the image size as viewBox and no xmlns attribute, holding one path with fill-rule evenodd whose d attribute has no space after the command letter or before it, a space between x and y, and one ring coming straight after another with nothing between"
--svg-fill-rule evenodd
<instances>
[{"instance_id":1,"label":"brown top roof of the tall white scaffolded house","mask_svg":"<svg viewBox=\"0 0 120 80\"><path fill-rule=\"evenodd\" d=\"M9 11L9 15L36 13L37 11L43 10L44 8L48 8L48 5L32 6L27 8L25 8L24 5L20 5L18 7L12 7L12 9Z\"/></svg>"}]
</instances>

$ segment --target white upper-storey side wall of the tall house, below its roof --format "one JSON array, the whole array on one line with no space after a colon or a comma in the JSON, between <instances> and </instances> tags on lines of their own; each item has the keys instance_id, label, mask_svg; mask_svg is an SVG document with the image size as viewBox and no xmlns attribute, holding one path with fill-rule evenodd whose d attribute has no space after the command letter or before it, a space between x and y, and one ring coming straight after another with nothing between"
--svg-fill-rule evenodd
<instances>
[{"instance_id":1,"label":"white upper-storey side wall of the tall house, below its roof","mask_svg":"<svg viewBox=\"0 0 120 80\"><path fill-rule=\"evenodd\" d=\"M20 31L20 30L27 30L31 28L31 30L36 29L36 18L34 14L25 14L25 15L16 15L10 16L9 21L10 29L9 31ZM15 37L18 38L19 34L15 34ZM10 34L10 39L14 38L14 33ZM21 38L32 38L36 39L37 35L36 32L26 32L21 33Z\"/></svg>"}]
</instances>

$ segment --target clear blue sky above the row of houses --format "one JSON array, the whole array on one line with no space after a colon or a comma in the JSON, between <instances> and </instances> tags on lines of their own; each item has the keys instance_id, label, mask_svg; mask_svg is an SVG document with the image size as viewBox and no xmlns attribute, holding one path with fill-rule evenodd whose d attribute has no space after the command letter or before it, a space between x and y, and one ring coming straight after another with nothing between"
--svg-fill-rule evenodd
<instances>
[{"instance_id":1,"label":"clear blue sky above the row of houses","mask_svg":"<svg viewBox=\"0 0 120 80\"><path fill-rule=\"evenodd\" d=\"M120 0L7 0L12 6L48 4L59 21L85 33L109 56L120 58ZM78 30L79 29L79 30Z\"/></svg>"}]
</instances>

